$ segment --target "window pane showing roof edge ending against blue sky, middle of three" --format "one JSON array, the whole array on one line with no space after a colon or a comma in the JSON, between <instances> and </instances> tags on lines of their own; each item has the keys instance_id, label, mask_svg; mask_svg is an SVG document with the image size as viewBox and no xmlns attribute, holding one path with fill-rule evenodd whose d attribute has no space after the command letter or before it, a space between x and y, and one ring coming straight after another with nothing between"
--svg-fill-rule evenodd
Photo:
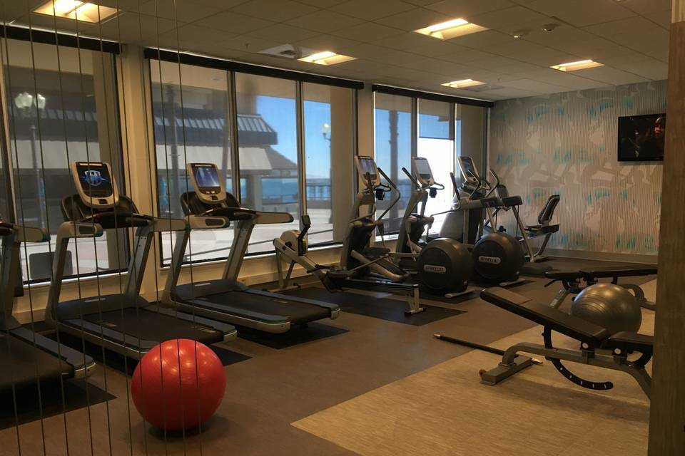
<instances>
[{"instance_id":1,"label":"window pane showing roof edge ending against blue sky, middle of three","mask_svg":"<svg viewBox=\"0 0 685 456\"><path fill-rule=\"evenodd\" d=\"M296 92L295 81L235 73L241 202L293 215L290 224L257 225L248 253L273 252L274 238L300 227Z\"/></svg>"}]
</instances>

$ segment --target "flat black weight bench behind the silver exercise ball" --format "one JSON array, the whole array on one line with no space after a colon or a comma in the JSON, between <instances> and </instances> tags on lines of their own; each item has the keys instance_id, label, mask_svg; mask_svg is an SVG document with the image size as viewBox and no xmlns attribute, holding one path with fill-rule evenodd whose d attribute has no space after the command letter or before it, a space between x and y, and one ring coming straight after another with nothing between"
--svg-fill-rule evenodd
<instances>
[{"instance_id":1,"label":"flat black weight bench behind the silver exercise ball","mask_svg":"<svg viewBox=\"0 0 685 456\"><path fill-rule=\"evenodd\" d=\"M556 281L561 281L564 286L563 289L559 290L557 296L554 296L554 299L552 299L550 306L554 307L554 309L558 309L569 294L579 294L588 286L597 284L599 279L611 278L612 284L617 284L631 290L641 307L653 311L656 309L656 306L653 302L646 299L644 290L639 285L619 284L618 282L621 277L651 276L654 274L656 274L656 266L636 264L634 266L583 268L578 271L546 271L544 276L547 279L552 279L545 286L552 285Z\"/></svg>"}]
</instances>

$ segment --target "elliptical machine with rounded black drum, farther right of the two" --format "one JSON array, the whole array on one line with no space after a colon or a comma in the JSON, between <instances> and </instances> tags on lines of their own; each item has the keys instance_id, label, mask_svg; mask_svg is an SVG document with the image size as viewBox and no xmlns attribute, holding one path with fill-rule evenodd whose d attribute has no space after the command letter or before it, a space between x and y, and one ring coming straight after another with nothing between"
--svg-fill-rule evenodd
<instances>
[{"instance_id":1,"label":"elliptical machine with rounded black drum, farther right of the two","mask_svg":"<svg viewBox=\"0 0 685 456\"><path fill-rule=\"evenodd\" d=\"M499 286L521 282L519 274L525 255L519 240L504 232L483 234L485 217L491 227L496 226L493 209L516 204L492 196L499 185L497 175L494 175L497 182L493 185L478 174L471 157L457 157L457 164L463 183L457 185L454 173L450 173L455 199L452 209L445 212L447 216L440 229L440 237L455 239L471 249L476 281ZM520 200L520 197L510 198Z\"/></svg>"}]
</instances>

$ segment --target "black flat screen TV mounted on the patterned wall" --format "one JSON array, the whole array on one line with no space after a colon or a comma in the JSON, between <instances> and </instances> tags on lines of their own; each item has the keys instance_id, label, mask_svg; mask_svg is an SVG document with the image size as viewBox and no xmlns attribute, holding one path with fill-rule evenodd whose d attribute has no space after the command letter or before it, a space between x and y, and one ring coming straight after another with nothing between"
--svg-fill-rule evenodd
<instances>
[{"instance_id":1,"label":"black flat screen TV mounted on the patterned wall","mask_svg":"<svg viewBox=\"0 0 685 456\"><path fill-rule=\"evenodd\" d=\"M619 162L664 160L666 114L619 117Z\"/></svg>"}]
</instances>

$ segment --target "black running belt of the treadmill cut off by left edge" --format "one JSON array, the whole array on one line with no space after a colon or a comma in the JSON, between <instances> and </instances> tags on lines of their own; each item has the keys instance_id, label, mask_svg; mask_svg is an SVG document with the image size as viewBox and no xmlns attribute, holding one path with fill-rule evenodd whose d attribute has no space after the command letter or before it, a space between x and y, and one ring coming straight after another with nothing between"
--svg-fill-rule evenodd
<instances>
[{"instance_id":1,"label":"black running belt of the treadmill cut off by left edge","mask_svg":"<svg viewBox=\"0 0 685 456\"><path fill-rule=\"evenodd\" d=\"M73 367L56 356L35 348L30 343L11 336L0 336L0 390L11 390L26 385L59 380L61 375L73 375Z\"/></svg>"}]
</instances>

